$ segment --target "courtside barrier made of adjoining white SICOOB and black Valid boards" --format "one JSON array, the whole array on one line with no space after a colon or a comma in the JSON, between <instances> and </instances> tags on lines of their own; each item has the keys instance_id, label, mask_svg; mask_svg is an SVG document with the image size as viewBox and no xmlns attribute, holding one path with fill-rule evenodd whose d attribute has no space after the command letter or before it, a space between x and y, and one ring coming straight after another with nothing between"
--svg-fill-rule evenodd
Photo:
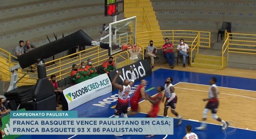
<instances>
[{"instance_id":1,"label":"courtside barrier made of adjoining white SICOOB and black Valid boards","mask_svg":"<svg viewBox=\"0 0 256 139\"><path fill-rule=\"evenodd\" d=\"M127 65L120 69L114 70L109 73L101 74L92 79L83 81L79 84L73 85L69 88L63 90L63 97L65 98L62 105L63 110L72 110L90 100L97 97L103 96L114 90L117 90L112 86L111 81L114 79L117 71L121 71L121 75L117 78L118 84L123 84L125 79L131 80L130 67L133 67L133 72L135 73L135 81L144 79L152 74L152 69L148 60L140 60L131 65Z\"/></svg>"}]
</instances>

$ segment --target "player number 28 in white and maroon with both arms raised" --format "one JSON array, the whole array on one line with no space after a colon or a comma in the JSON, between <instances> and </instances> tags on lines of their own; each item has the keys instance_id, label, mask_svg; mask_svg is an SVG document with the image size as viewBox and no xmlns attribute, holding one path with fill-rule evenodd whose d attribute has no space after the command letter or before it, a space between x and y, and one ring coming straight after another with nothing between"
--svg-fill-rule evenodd
<instances>
[{"instance_id":1,"label":"player number 28 in white and maroon with both arms raised","mask_svg":"<svg viewBox=\"0 0 256 139\"><path fill-rule=\"evenodd\" d=\"M131 86L134 84L134 73L132 72L133 68L130 68L131 71L131 81L129 82L128 79L124 80L124 85L120 85L116 83L117 77L121 74L120 71L117 72L116 76L112 81L112 85L119 89L118 91L118 102L115 108L115 117L118 118L121 114L123 117L127 118L127 109L128 109L128 99L129 99L129 92L131 90Z\"/></svg>"}]
</instances>

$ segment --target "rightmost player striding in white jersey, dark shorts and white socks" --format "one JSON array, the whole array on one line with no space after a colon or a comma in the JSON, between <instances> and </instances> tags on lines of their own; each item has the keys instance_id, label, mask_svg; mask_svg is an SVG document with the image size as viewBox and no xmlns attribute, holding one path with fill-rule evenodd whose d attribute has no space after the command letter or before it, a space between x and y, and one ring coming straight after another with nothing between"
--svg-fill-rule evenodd
<instances>
[{"instance_id":1,"label":"rightmost player striding in white jersey, dark shorts and white socks","mask_svg":"<svg viewBox=\"0 0 256 139\"><path fill-rule=\"evenodd\" d=\"M203 99L203 101L208 101L206 104L205 110L203 112L203 122L201 123L200 127L196 127L197 130L206 130L207 124L205 123L207 118L207 113L211 110L212 111L212 117L213 119L222 122L222 130L225 130L227 126L229 125L228 122L225 122L224 120L220 119L216 113L218 111L218 105L219 105L219 91L216 86L217 79L215 77L212 77L210 80L210 87L209 87L209 98Z\"/></svg>"}]
</instances>

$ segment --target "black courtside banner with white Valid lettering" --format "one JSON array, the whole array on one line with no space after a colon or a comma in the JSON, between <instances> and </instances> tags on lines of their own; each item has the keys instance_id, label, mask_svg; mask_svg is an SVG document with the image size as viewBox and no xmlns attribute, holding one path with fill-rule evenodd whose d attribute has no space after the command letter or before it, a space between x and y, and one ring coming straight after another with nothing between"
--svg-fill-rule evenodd
<instances>
[{"instance_id":1,"label":"black courtside banner with white Valid lettering","mask_svg":"<svg viewBox=\"0 0 256 139\"><path fill-rule=\"evenodd\" d=\"M120 69L114 70L109 73L110 80L112 81L117 74L117 71L121 71L121 75L117 78L117 83L118 84L123 84L125 79L128 79L129 81L131 80L131 72L130 72L130 66L133 67L133 72L135 73L135 82L138 80L142 80L147 76L151 76L152 74L152 69L150 67L150 64L147 59L140 60L136 63L133 63L131 65L127 65L125 67L122 67ZM113 91L117 90L113 86Z\"/></svg>"}]
</instances>

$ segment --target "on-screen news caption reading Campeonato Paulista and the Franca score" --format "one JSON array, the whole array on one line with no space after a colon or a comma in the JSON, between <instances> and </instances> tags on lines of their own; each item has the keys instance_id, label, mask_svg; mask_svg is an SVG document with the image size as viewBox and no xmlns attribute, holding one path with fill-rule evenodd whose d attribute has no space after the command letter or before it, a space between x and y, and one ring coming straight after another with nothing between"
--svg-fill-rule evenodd
<instances>
[{"instance_id":1,"label":"on-screen news caption reading Campeonato Paulista and the Franca score","mask_svg":"<svg viewBox=\"0 0 256 139\"><path fill-rule=\"evenodd\" d=\"M11 111L11 135L173 135L173 118L78 118L77 111Z\"/></svg>"}]
</instances>

